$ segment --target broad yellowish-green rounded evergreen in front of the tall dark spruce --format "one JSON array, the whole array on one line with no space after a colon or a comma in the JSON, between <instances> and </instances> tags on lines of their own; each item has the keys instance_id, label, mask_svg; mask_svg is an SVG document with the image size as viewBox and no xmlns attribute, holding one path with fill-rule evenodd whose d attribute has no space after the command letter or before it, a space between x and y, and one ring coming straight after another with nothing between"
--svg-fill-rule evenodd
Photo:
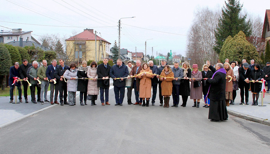
<instances>
[{"instance_id":1,"label":"broad yellowish-green rounded evergreen in front of the tall dark spruce","mask_svg":"<svg viewBox=\"0 0 270 154\"><path fill-rule=\"evenodd\" d=\"M242 31L233 38L229 36L224 41L219 58L220 61L225 61L228 58L231 61L242 61L242 59L250 61L254 59L256 63L261 62L256 48L246 40L246 36Z\"/></svg>"}]
</instances>

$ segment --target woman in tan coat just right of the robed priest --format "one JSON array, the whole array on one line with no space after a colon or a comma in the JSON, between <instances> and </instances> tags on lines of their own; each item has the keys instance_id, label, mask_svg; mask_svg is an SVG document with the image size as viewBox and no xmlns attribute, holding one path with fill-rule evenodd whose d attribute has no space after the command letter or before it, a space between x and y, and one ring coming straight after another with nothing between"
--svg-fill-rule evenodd
<instances>
[{"instance_id":1,"label":"woman in tan coat just right of the robed priest","mask_svg":"<svg viewBox=\"0 0 270 154\"><path fill-rule=\"evenodd\" d=\"M231 76L232 79L234 78L234 74L233 74L233 69L231 67L231 65L226 62L224 63L224 69L226 70L226 73L227 73L227 76ZM232 99L232 80L229 82L230 78L227 77L226 79L226 99L225 99L225 102L226 102L226 105L227 106L230 106L230 100Z\"/></svg>"}]
</instances>

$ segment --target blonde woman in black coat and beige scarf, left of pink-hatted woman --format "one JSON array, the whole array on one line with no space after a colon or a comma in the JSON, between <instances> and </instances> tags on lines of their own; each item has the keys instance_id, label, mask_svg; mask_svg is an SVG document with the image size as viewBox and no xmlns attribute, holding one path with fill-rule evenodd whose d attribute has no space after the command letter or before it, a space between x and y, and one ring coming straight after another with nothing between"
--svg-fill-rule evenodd
<instances>
[{"instance_id":1,"label":"blonde woman in black coat and beige scarf, left of pink-hatted woman","mask_svg":"<svg viewBox=\"0 0 270 154\"><path fill-rule=\"evenodd\" d=\"M186 107L187 105L187 98L188 96L190 96L190 84L189 84L189 79L188 78L191 78L191 69L190 69L190 64L185 61L183 66L182 66L182 69L183 69L183 80L181 80L180 82L180 93L179 95L182 96L182 105L180 106L183 106L183 107Z\"/></svg>"}]
</instances>

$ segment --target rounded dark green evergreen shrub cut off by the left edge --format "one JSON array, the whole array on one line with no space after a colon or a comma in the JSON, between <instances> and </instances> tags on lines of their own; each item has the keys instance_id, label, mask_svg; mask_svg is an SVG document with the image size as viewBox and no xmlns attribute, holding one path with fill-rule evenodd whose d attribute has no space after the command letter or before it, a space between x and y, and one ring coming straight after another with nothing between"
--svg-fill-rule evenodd
<instances>
[{"instance_id":1,"label":"rounded dark green evergreen shrub cut off by the left edge","mask_svg":"<svg viewBox=\"0 0 270 154\"><path fill-rule=\"evenodd\" d=\"M9 73L10 66L12 66L10 54L4 44L0 43L0 84L2 90L5 89L4 76Z\"/></svg>"}]
</instances>

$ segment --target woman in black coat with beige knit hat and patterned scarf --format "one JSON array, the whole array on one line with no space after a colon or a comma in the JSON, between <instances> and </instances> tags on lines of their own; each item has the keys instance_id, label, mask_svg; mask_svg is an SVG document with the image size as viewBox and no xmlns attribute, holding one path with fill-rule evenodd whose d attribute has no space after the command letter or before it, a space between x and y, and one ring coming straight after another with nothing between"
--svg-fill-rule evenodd
<instances>
[{"instance_id":1,"label":"woman in black coat with beige knit hat and patterned scarf","mask_svg":"<svg viewBox=\"0 0 270 154\"><path fill-rule=\"evenodd\" d=\"M82 61L82 65L78 68L77 76L78 78L87 78L87 62ZM87 105L86 98L87 98L87 85L88 79L79 79L78 80L78 88L77 90L80 92L80 104ZM83 98L84 97L84 98ZM82 103L82 99L84 100L84 104Z\"/></svg>"}]
</instances>

